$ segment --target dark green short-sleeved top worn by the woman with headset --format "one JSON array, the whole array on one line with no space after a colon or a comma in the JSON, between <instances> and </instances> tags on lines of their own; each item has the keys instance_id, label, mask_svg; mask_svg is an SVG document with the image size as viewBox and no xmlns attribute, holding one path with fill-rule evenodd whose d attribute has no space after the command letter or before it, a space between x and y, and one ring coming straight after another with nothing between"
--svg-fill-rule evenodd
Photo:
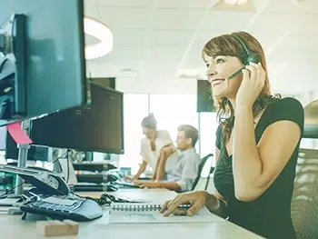
<instances>
[{"instance_id":1,"label":"dark green short-sleeved top worn by the woman with headset","mask_svg":"<svg viewBox=\"0 0 318 239\"><path fill-rule=\"evenodd\" d=\"M256 143L261 139L266 127L282 120L298 124L303 135L303 106L296 99L286 97L273 102L265 109L255 128ZM282 173L259 198L252 202L242 202L234 195L232 155L227 154L222 127L219 125L216 132L216 147L220 150L220 158L215 166L214 185L227 201L229 221L265 238L295 238L291 200L299 146L300 141Z\"/></svg>"}]
</instances>

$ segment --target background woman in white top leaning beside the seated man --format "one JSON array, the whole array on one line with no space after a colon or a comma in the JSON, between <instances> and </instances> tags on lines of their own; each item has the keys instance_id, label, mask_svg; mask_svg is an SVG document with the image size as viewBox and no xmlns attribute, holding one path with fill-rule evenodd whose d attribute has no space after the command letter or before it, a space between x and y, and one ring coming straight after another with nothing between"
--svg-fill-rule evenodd
<instances>
[{"instance_id":1,"label":"background woman in white top leaning beside the seated man","mask_svg":"<svg viewBox=\"0 0 318 239\"><path fill-rule=\"evenodd\" d=\"M152 179L156 179L156 166L160 156L168 157L170 154L165 152L174 152L175 146L170 134L166 130L157 130L157 121L154 118L154 114L150 114L144 117L142 121L143 134L145 137L141 141L140 154L143 157L143 163L140 165L137 174L134 177L125 177L127 181L135 181L139 178L141 174L144 173L147 165L153 170ZM164 150L165 149L165 150ZM167 160L165 167L166 171L174 168L176 159L170 158Z\"/></svg>"}]
</instances>

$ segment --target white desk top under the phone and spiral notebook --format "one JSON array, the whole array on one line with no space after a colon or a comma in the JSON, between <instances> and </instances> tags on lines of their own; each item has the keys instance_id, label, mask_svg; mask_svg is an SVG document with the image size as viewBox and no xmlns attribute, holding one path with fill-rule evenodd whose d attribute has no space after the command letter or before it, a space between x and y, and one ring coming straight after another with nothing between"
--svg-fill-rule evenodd
<instances>
[{"instance_id":1,"label":"white desk top under the phone and spiral notebook","mask_svg":"<svg viewBox=\"0 0 318 239\"><path fill-rule=\"evenodd\" d=\"M81 193L96 196L101 193ZM154 203L164 203L175 195L172 191L158 189L124 189L111 193L116 196L126 196L152 200ZM79 234L76 236L53 237L57 239L256 239L262 238L256 234L225 221L215 215L214 223L203 224L104 224L104 218L92 222L81 223ZM35 230L35 222L21 221L21 215L7 215L0 213L0 232L2 237L10 239L42 239Z\"/></svg>"}]
</instances>

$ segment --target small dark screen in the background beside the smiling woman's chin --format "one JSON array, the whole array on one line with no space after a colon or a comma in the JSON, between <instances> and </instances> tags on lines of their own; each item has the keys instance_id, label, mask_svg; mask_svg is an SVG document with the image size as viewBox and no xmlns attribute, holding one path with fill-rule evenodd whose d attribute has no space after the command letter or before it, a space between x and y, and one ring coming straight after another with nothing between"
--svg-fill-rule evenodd
<instances>
[{"instance_id":1,"label":"small dark screen in the background beside the smiling woman's chin","mask_svg":"<svg viewBox=\"0 0 318 239\"><path fill-rule=\"evenodd\" d=\"M207 80L197 80L196 112L215 112L211 84Z\"/></svg>"}]
</instances>

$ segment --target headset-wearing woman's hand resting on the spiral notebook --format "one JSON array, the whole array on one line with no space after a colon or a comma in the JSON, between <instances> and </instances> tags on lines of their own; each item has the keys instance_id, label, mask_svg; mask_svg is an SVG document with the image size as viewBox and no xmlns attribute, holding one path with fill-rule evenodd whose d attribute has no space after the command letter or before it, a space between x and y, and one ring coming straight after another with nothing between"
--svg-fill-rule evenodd
<instances>
[{"instance_id":1,"label":"headset-wearing woman's hand resting on the spiral notebook","mask_svg":"<svg viewBox=\"0 0 318 239\"><path fill-rule=\"evenodd\" d=\"M166 201L160 210L161 214L168 216L175 215L193 215L204 207L206 201L211 195L206 191L195 191L184 194L178 194L173 200ZM187 210L178 208L182 204L191 204Z\"/></svg>"}]
</instances>

